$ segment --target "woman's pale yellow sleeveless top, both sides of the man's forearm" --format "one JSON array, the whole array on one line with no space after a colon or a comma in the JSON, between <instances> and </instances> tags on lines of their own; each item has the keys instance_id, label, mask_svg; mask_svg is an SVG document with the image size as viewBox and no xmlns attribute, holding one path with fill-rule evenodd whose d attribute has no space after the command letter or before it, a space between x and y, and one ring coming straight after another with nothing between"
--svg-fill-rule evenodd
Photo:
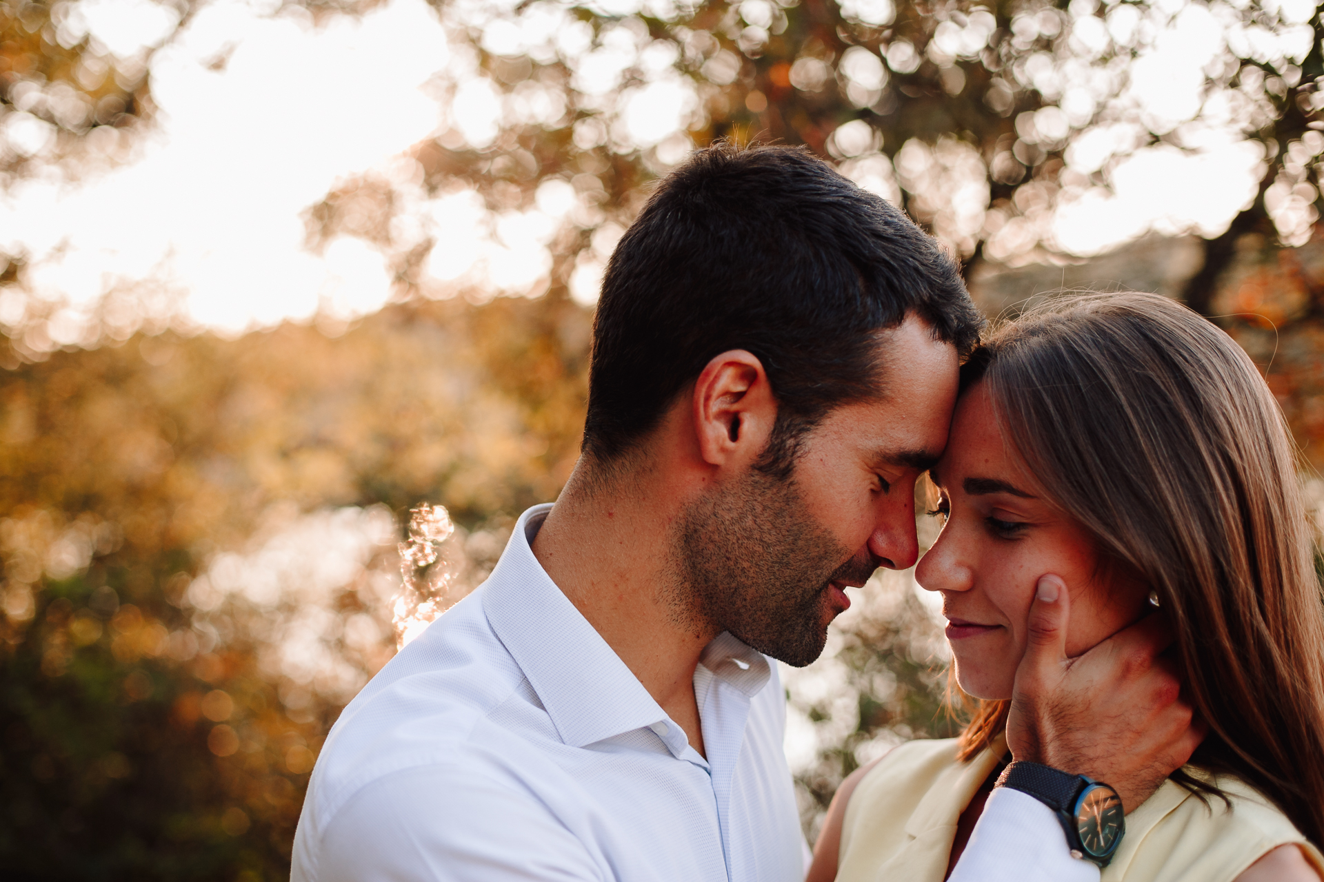
<instances>
[{"instance_id":1,"label":"woman's pale yellow sleeveless top, both sides of the man's forearm","mask_svg":"<svg viewBox=\"0 0 1324 882\"><path fill-rule=\"evenodd\" d=\"M1000 739L968 763L956 739L912 741L865 775L846 804L837 882L943 882L956 821L1005 752ZM1198 772L1197 772L1198 774ZM1127 815L1127 833L1103 882L1231 882L1267 852L1296 842L1324 874L1324 857L1287 816L1235 779L1206 804L1164 782Z\"/></svg>"}]
</instances>

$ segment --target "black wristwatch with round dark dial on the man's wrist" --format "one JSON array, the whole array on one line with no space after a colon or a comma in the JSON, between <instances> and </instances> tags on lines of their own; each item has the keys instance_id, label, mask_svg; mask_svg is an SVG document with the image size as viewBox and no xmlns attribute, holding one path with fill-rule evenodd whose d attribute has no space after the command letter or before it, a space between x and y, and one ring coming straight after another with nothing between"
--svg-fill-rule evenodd
<instances>
[{"instance_id":1,"label":"black wristwatch with round dark dial on the man's wrist","mask_svg":"<svg viewBox=\"0 0 1324 882\"><path fill-rule=\"evenodd\" d=\"M1125 812L1117 791L1107 784L1041 766L1010 763L994 787L1010 787L1029 793L1053 809L1067 834L1071 857L1108 866L1121 834L1127 832Z\"/></svg>"}]
</instances>

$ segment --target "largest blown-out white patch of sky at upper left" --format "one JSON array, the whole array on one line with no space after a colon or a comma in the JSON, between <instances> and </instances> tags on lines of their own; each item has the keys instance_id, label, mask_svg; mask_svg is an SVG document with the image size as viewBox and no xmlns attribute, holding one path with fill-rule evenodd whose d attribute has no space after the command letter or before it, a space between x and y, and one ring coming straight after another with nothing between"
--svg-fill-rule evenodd
<instances>
[{"instance_id":1,"label":"largest blown-out white patch of sky at upper left","mask_svg":"<svg viewBox=\"0 0 1324 882\"><path fill-rule=\"evenodd\" d=\"M150 15L109 8L152 4L99 5L93 30L113 50L131 54L135 34L151 34L134 26ZM224 70L209 70L228 46ZM437 128L438 106L418 86L446 58L421 0L320 30L244 3L204 7L152 65L160 126L143 156L86 185L15 188L0 241L36 258L37 292L74 304L155 278L187 292L196 321L230 332L311 316L323 299L375 309L389 292L383 257L352 239L310 254L301 212Z\"/></svg>"}]
</instances>

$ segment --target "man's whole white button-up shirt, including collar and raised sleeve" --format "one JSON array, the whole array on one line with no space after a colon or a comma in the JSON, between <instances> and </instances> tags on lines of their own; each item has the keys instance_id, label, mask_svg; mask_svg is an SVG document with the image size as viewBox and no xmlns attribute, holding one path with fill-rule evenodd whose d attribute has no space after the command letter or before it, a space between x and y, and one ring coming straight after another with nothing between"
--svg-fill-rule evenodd
<instances>
[{"instance_id":1,"label":"man's whole white button-up shirt, including collar and raised sleeve","mask_svg":"<svg viewBox=\"0 0 1324 882\"><path fill-rule=\"evenodd\" d=\"M776 665L730 633L694 676L707 759L530 547L344 709L312 771L294 882L798 882ZM997 791L952 882L1096 882L1034 799Z\"/></svg>"}]
</instances>

